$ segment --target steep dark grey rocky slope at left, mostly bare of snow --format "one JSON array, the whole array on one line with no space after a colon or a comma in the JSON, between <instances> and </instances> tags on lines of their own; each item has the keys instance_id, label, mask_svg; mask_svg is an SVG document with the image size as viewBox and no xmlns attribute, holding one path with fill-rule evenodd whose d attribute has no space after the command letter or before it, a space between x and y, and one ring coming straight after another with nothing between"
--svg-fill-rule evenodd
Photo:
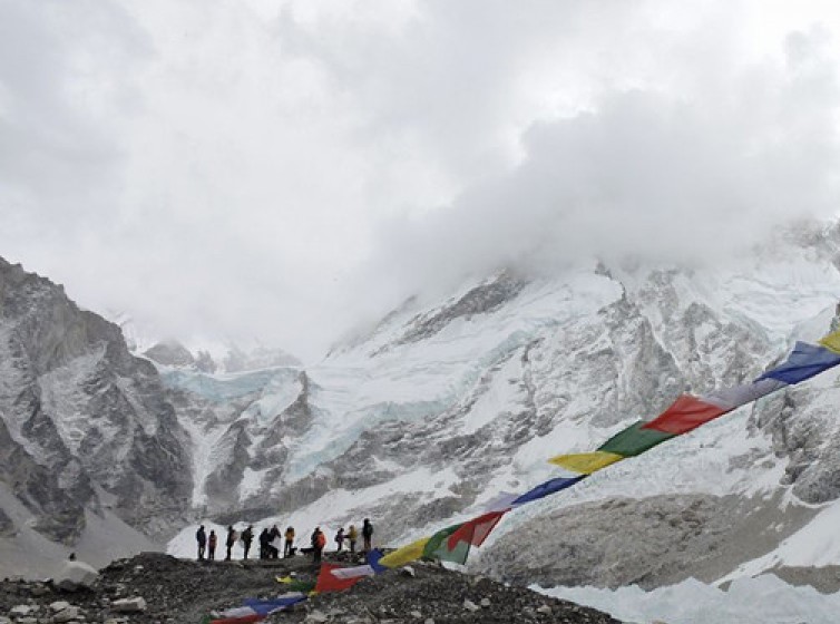
<instances>
[{"instance_id":1,"label":"steep dark grey rocky slope at left, mostly bare of snow","mask_svg":"<svg viewBox=\"0 0 840 624\"><path fill-rule=\"evenodd\" d=\"M74 544L86 510L166 530L192 479L164 394L119 328L0 260L0 487L21 504L3 505L3 534Z\"/></svg>"}]
</instances>

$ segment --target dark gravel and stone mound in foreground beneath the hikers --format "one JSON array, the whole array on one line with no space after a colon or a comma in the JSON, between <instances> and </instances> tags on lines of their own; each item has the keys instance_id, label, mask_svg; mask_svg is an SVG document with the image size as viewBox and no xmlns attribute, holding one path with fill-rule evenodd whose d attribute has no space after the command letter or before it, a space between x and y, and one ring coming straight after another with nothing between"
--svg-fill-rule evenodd
<instances>
[{"instance_id":1,"label":"dark gravel and stone mound in foreground beneath the hikers","mask_svg":"<svg viewBox=\"0 0 840 624\"><path fill-rule=\"evenodd\" d=\"M315 577L307 557L198 563L144 553L101 569L90 589L62 592L50 582L6 579L0 624L198 624L214 610L241 606L244 598L283 593L275 577L290 573L303 581ZM117 601L136 597L145 602L143 611L118 611ZM56 605L61 602L69 604ZM348 592L313 596L266 622L619 624L588 607L426 563L365 578Z\"/></svg>"}]
</instances>

